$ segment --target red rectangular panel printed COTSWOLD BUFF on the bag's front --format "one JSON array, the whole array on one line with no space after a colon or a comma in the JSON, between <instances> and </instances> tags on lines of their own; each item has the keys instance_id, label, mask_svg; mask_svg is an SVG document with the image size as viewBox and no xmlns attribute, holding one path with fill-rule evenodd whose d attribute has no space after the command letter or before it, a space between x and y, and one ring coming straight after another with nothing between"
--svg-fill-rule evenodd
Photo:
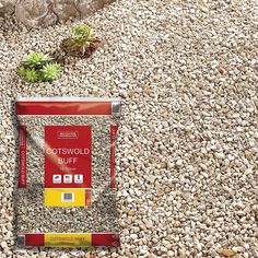
<instances>
[{"instance_id":1,"label":"red rectangular panel printed COTSWOLD BUFF on the bag's front","mask_svg":"<svg viewBox=\"0 0 258 258\"><path fill-rule=\"evenodd\" d=\"M92 187L91 126L45 126L45 187Z\"/></svg>"}]
</instances>

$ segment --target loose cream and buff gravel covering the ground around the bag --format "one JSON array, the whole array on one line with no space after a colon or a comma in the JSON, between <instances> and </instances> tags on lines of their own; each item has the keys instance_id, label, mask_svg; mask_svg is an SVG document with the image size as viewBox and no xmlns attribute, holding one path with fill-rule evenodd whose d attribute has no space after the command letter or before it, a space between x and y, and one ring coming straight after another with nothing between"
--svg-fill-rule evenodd
<instances>
[{"instance_id":1,"label":"loose cream and buff gravel covering the ground around the bag","mask_svg":"<svg viewBox=\"0 0 258 258\"><path fill-rule=\"evenodd\" d=\"M87 21L102 48L67 59L52 84L15 69L27 50L54 50L69 24L0 28L1 257L258 257L257 1L120 0ZM120 249L13 250L17 95L124 98Z\"/></svg>"}]
</instances>

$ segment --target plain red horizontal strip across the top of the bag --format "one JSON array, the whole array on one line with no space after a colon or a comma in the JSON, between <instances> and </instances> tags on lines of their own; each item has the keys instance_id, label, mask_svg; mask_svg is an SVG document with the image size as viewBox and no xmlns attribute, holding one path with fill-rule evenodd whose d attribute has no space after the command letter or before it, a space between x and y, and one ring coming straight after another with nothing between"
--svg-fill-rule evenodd
<instances>
[{"instance_id":1,"label":"plain red horizontal strip across the top of the bag","mask_svg":"<svg viewBox=\"0 0 258 258\"><path fill-rule=\"evenodd\" d=\"M112 102L16 102L16 115L112 115Z\"/></svg>"}]
</instances>

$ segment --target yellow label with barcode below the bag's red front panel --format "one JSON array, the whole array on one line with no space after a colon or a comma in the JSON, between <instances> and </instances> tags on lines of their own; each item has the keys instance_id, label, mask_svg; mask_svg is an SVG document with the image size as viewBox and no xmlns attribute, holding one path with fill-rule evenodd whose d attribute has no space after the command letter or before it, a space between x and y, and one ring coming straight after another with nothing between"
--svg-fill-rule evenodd
<instances>
[{"instance_id":1,"label":"yellow label with barcode below the bag's red front panel","mask_svg":"<svg viewBox=\"0 0 258 258\"><path fill-rule=\"evenodd\" d=\"M45 188L44 204L46 207L84 207L85 189Z\"/></svg>"}]
</instances>

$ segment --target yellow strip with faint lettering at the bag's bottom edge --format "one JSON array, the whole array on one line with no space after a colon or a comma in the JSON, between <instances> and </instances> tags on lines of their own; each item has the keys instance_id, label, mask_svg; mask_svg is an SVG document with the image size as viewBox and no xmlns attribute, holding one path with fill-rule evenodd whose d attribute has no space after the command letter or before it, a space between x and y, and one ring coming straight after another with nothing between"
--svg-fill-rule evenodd
<instances>
[{"instance_id":1,"label":"yellow strip with faint lettering at the bag's bottom edge","mask_svg":"<svg viewBox=\"0 0 258 258\"><path fill-rule=\"evenodd\" d=\"M92 234L89 233L47 233L44 234L46 247L89 247L92 245Z\"/></svg>"}]
</instances>

